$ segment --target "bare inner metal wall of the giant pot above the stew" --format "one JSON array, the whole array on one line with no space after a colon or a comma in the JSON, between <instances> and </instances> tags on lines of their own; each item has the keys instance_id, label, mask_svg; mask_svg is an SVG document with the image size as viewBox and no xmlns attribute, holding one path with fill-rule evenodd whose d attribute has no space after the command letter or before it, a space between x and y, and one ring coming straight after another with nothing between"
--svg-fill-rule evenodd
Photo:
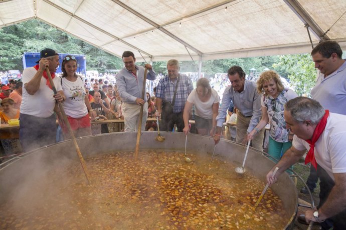
<instances>
[{"instance_id":1,"label":"bare inner metal wall of the giant pot above the stew","mask_svg":"<svg viewBox=\"0 0 346 230\"><path fill-rule=\"evenodd\" d=\"M85 158L109 153L111 151L134 151L136 132L116 132L77 138L78 145ZM140 150L146 149L185 149L185 135L179 132L162 132L165 141L154 140L156 132L145 131L140 138ZM189 134L187 149L196 154L209 154L213 152L214 140L208 136ZM215 156L230 162L243 162L245 155L244 145L221 139L215 150ZM139 154L140 157L140 154ZM198 158L198 157L197 157ZM45 146L24 155L16 157L0 167L0 203L11 197L20 189L23 183L32 183L40 180L44 173L52 166L66 163L68 160L78 160L72 141L63 141ZM39 166L38 166L39 165ZM265 175L274 166L274 162L265 157L261 151L250 148L245 168L265 182ZM297 213L298 195L293 181L289 175L283 173L278 182L271 188L281 198L287 213L290 213L285 228L290 229Z\"/></svg>"}]
</instances>

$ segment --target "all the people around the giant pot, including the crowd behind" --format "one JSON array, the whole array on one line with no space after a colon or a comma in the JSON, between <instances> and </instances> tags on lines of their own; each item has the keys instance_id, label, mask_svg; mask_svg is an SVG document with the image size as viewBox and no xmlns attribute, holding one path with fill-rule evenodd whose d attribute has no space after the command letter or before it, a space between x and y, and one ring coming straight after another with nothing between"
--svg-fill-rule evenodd
<instances>
[{"instance_id":1,"label":"all the people around the giant pot, including the crowd behind","mask_svg":"<svg viewBox=\"0 0 346 230\"><path fill-rule=\"evenodd\" d=\"M260 151L264 127L270 124L268 153L278 161L273 169L277 166L279 170L275 176L273 170L268 172L269 184L308 151L305 161L311 161L312 166L307 184L313 189L316 178L320 178L320 203L299 219L318 222L322 229L346 229L346 63L337 42L322 41L311 52L320 72L311 91L312 99L286 88L273 70L262 72L255 82L246 79L241 66L234 65L227 72L230 85L223 92L221 105L209 80L198 79L194 89L191 78L180 73L176 59L167 61L168 74L157 79L150 64L136 65L133 52L125 51L124 67L115 75L116 84L112 84L102 78L89 81L76 74L78 63L72 55L63 58L63 73L58 76L58 53L46 48L40 54L38 64L24 70L23 83L10 82L0 93L1 122L20 118L24 151L56 141L57 116L64 137L70 138L62 108L75 136L108 132L107 125L91 124L93 120L108 118L123 118L125 132L136 131L140 119L141 130L155 130L157 124L147 123L147 117L159 118L163 131L177 130L188 135L194 111L197 132L212 136L215 144L222 136L226 115L235 112L236 141L251 141ZM144 75L146 80L157 81L152 96L142 91L147 84ZM139 117L141 105L143 115Z\"/></svg>"}]
</instances>

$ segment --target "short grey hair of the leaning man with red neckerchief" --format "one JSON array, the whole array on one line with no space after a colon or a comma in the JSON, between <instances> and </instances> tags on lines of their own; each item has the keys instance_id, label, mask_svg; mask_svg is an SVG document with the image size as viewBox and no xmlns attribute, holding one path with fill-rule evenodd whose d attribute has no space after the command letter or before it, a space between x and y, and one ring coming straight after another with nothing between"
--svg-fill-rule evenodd
<instances>
[{"instance_id":1,"label":"short grey hair of the leaning man with red neckerchief","mask_svg":"<svg viewBox=\"0 0 346 230\"><path fill-rule=\"evenodd\" d=\"M325 111L322 105L314 99L298 96L285 104L285 110L288 111L296 122L311 120L312 124L317 124Z\"/></svg>"}]
</instances>

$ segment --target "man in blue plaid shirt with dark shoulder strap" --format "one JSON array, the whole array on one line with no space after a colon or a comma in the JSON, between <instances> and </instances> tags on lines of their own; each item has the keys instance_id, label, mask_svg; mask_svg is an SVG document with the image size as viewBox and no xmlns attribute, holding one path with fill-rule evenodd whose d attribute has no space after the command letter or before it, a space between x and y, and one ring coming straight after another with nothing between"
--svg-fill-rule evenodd
<instances>
[{"instance_id":1,"label":"man in blue plaid shirt with dark shoulder strap","mask_svg":"<svg viewBox=\"0 0 346 230\"><path fill-rule=\"evenodd\" d=\"M183 132L183 112L185 102L194 89L192 80L187 75L179 74L179 61L170 59L167 62L168 75L160 79L156 86L156 116L161 116L160 129L171 131L177 124L179 132ZM175 101L174 93L178 83ZM171 105L174 104L173 108Z\"/></svg>"}]
</instances>

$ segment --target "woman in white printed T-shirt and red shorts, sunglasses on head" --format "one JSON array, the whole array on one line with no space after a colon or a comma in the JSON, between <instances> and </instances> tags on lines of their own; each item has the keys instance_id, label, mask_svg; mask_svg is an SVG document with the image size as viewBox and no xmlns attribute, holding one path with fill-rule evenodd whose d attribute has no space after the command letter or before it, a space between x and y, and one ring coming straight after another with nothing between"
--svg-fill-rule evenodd
<instances>
[{"instance_id":1,"label":"woman in white printed T-shirt and red shorts, sunglasses on head","mask_svg":"<svg viewBox=\"0 0 346 230\"><path fill-rule=\"evenodd\" d=\"M67 55L61 64L61 86L66 95L63 108L76 137L91 135L90 116L92 108L84 88L84 80L76 74L77 60L75 56ZM59 115L59 110L57 111ZM90 114L89 114L90 113ZM59 119L65 139L71 138L66 124Z\"/></svg>"}]
</instances>

